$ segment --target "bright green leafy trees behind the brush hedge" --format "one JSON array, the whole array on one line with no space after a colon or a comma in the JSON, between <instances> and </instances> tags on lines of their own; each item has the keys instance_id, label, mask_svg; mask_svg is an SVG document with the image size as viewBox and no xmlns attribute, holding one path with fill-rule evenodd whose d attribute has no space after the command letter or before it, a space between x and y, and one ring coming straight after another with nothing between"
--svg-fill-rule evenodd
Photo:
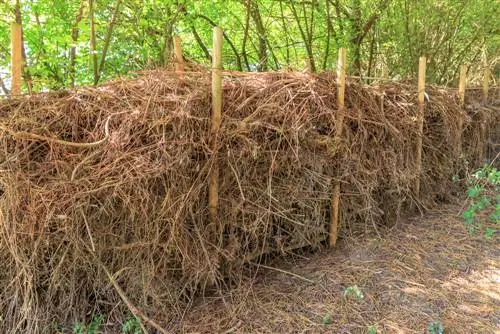
<instances>
[{"instance_id":1,"label":"bright green leafy trees behind the brush hedge","mask_svg":"<svg viewBox=\"0 0 500 334\"><path fill-rule=\"evenodd\" d=\"M25 90L164 66L174 35L187 59L208 64L216 25L227 69L331 70L346 47L351 75L414 78L425 55L428 81L446 85L462 63L496 64L499 9L496 0L0 0L0 91L13 21L23 27Z\"/></svg>"}]
</instances>

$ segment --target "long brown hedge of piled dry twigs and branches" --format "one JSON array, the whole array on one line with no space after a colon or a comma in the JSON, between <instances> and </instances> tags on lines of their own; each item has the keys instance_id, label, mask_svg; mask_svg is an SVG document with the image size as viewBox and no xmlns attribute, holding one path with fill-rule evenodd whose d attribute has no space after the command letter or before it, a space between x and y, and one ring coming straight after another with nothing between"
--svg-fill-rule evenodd
<instances>
[{"instance_id":1,"label":"long brown hedge of piled dry twigs and branches","mask_svg":"<svg viewBox=\"0 0 500 334\"><path fill-rule=\"evenodd\" d=\"M182 314L182 300L261 254L321 246L334 181L343 233L377 229L452 196L461 159L484 145L460 150L459 122L479 125L455 92L429 87L417 198L416 87L349 84L336 141L333 75L266 73L225 77L214 154L209 78L153 71L0 102L1 332L124 312L120 298Z\"/></svg>"}]
</instances>

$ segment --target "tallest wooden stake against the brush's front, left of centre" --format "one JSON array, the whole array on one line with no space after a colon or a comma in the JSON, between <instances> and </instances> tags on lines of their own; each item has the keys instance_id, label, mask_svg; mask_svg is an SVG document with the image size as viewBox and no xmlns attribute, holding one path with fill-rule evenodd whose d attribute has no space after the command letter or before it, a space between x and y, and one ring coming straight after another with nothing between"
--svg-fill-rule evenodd
<instances>
[{"instance_id":1,"label":"tallest wooden stake against the brush's front, left of centre","mask_svg":"<svg viewBox=\"0 0 500 334\"><path fill-rule=\"evenodd\" d=\"M222 29L214 27L212 55L212 118L211 118L211 148L214 163L210 170L208 208L210 218L217 223L217 207L219 205L219 163L217 159L217 133L222 119Z\"/></svg>"}]
</instances>

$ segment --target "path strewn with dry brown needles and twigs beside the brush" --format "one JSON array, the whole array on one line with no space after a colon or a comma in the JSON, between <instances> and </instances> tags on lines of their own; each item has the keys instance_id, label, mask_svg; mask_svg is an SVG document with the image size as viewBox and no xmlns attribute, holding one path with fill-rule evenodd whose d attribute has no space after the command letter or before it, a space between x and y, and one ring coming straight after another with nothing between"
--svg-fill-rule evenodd
<instances>
[{"instance_id":1,"label":"path strewn with dry brown needles and twigs beside the brush","mask_svg":"<svg viewBox=\"0 0 500 334\"><path fill-rule=\"evenodd\" d=\"M500 333L498 237L471 236L459 206L381 236L274 260L251 280L205 297L184 333Z\"/></svg>"}]
</instances>

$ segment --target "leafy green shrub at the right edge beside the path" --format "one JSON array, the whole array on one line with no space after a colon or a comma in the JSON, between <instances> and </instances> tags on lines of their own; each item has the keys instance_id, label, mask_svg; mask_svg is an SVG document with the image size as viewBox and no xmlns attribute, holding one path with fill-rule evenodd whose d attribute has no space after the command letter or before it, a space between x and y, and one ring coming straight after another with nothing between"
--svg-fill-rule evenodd
<instances>
[{"instance_id":1,"label":"leafy green shrub at the right edge beside the path","mask_svg":"<svg viewBox=\"0 0 500 334\"><path fill-rule=\"evenodd\" d=\"M496 234L496 228L485 223L498 225L500 222L500 171L485 165L469 178L467 189L468 207L463 213L465 224L471 234L483 232L486 238Z\"/></svg>"}]
</instances>

